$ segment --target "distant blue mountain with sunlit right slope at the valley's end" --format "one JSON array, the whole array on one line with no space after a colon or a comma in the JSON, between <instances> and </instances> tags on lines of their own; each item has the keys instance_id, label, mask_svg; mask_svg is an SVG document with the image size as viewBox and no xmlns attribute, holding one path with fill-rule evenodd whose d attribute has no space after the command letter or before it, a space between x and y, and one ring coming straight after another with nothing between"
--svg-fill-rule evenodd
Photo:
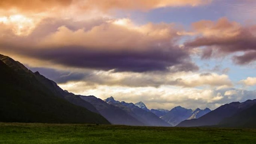
<instances>
[{"instance_id":1,"label":"distant blue mountain with sunlit right slope at the valley's end","mask_svg":"<svg viewBox=\"0 0 256 144\"><path fill-rule=\"evenodd\" d=\"M195 110L192 110L178 106L171 109L167 114L162 116L161 119L173 126L176 126L183 120L198 118L210 111L211 110L209 108L205 108L204 110L196 108Z\"/></svg>"}]
</instances>

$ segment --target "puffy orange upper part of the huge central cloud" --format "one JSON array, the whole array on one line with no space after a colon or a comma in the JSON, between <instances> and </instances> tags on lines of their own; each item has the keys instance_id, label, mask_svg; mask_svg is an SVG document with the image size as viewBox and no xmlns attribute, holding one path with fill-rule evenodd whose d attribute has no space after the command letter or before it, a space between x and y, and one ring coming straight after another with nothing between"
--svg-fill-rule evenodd
<instances>
[{"instance_id":1,"label":"puffy orange upper part of the huge central cloud","mask_svg":"<svg viewBox=\"0 0 256 144\"><path fill-rule=\"evenodd\" d=\"M101 50L146 50L167 48L179 37L174 24L135 26L129 19L110 20L90 30L70 30L65 26L41 41L43 47L85 46Z\"/></svg>"}]
</instances>

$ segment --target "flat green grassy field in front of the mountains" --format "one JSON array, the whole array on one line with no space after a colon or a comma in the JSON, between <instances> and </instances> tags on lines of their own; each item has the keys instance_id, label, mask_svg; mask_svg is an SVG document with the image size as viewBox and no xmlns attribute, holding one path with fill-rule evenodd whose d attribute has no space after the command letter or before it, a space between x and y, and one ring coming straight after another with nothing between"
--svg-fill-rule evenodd
<instances>
[{"instance_id":1,"label":"flat green grassy field in front of the mountains","mask_svg":"<svg viewBox=\"0 0 256 144\"><path fill-rule=\"evenodd\" d=\"M0 123L0 144L255 144L256 129Z\"/></svg>"}]
</instances>

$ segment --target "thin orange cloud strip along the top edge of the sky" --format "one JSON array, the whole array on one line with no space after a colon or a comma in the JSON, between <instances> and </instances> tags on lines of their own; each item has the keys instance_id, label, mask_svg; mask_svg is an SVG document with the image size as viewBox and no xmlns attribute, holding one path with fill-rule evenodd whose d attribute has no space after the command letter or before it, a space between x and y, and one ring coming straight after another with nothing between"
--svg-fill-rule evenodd
<instances>
[{"instance_id":1,"label":"thin orange cloud strip along the top edge of the sky","mask_svg":"<svg viewBox=\"0 0 256 144\"><path fill-rule=\"evenodd\" d=\"M212 0L1 0L1 9L17 9L28 12L61 9L75 6L76 9L102 11L112 9L149 10L169 6L200 6Z\"/></svg>"}]
</instances>

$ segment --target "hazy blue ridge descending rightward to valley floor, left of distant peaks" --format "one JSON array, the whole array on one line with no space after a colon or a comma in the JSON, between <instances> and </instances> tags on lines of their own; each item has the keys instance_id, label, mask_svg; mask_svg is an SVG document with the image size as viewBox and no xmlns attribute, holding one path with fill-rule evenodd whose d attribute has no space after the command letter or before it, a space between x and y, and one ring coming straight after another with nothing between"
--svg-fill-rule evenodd
<instances>
[{"instance_id":1,"label":"hazy blue ridge descending rightward to valley floor, left of distant peaks","mask_svg":"<svg viewBox=\"0 0 256 144\"><path fill-rule=\"evenodd\" d=\"M130 116L142 122L144 126L171 126L155 114L151 113L150 111L143 110L133 103L127 103L124 101L119 102L113 97L107 98L104 101L126 111Z\"/></svg>"}]
</instances>

